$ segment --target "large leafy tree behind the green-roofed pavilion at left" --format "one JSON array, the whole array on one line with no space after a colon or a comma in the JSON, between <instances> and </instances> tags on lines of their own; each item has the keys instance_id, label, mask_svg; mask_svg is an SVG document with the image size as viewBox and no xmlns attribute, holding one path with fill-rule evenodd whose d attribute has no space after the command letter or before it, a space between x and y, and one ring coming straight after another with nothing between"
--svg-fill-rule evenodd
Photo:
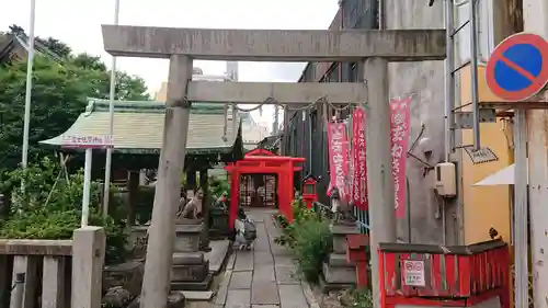
<instances>
[{"instance_id":1,"label":"large leafy tree behind the green-roofed pavilion at left","mask_svg":"<svg viewBox=\"0 0 548 308\"><path fill-rule=\"evenodd\" d=\"M16 27L12 31L20 31ZM48 38L60 50L70 48ZM49 44L48 43L48 44ZM66 46L66 47L62 47ZM26 62L0 66L0 172L13 170L21 161ZM30 158L50 155L38 141L68 129L88 104L87 98L107 99L110 71L99 57L69 55L62 64L36 55L31 104ZM116 72L117 100L149 100L145 81ZM1 180L1 179L0 179Z\"/></svg>"}]
</instances>

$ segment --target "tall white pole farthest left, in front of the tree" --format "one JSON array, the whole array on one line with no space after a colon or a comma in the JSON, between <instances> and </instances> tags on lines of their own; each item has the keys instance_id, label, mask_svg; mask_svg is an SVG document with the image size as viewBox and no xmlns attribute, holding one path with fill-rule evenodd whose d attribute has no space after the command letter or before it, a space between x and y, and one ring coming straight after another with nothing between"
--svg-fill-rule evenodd
<instances>
[{"instance_id":1,"label":"tall white pole farthest left, in front of the tree","mask_svg":"<svg viewBox=\"0 0 548 308\"><path fill-rule=\"evenodd\" d=\"M25 116L23 122L23 152L21 164L28 166L28 134L31 130L31 99L33 89L33 64L34 64L34 22L36 20L36 0L31 0L31 21L28 28L28 58L26 60L26 89L25 89Z\"/></svg>"}]
</instances>

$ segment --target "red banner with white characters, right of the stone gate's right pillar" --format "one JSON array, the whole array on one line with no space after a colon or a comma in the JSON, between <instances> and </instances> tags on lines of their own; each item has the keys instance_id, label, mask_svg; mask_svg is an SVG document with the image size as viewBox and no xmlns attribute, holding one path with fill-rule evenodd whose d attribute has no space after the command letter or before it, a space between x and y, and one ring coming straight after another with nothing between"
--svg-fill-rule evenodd
<instances>
[{"instance_id":1,"label":"red banner with white characters, right of the stone gate's right pillar","mask_svg":"<svg viewBox=\"0 0 548 308\"><path fill-rule=\"evenodd\" d=\"M409 147L411 98L390 100L390 141L396 218L406 217L406 162Z\"/></svg>"}]
</instances>

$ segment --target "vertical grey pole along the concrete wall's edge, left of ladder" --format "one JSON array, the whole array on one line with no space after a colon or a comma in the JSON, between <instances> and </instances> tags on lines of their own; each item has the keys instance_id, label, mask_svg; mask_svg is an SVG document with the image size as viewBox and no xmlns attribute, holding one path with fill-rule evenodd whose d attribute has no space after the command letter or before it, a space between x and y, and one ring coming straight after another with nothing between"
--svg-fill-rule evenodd
<instances>
[{"instance_id":1,"label":"vertical grey pole along the concrete wall's edge, left of ladder","mask_svg":"<svg viewBox=\"0 0 548 308\"><path fill-rule=\"evenodd\" d=\"M446 37L446 53L445 59L445 161L450 160L453 151L453 107L455 106L455 44L453 39L453 32L455 31L455 12L454 0L445 1L445 37Z\"/></svg>"}]
</instances>

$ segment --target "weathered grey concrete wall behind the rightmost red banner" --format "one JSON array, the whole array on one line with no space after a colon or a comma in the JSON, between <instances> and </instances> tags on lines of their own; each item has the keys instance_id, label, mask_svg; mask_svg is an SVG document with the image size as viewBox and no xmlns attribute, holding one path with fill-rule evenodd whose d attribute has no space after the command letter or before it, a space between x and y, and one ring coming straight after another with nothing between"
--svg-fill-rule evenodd
<instances>
[{"instance_id":1,"label":"weathered grey concrete wall behind the rightmost red banner","mask_svg":"<svg viewBox=\"0 0 548 308\"><path fill-rule=\"evenodd\" d=\"M430 8L424 0L386 0L385 26L387 28L444 27L444 1ZM444 158L444 62L390 64L390 95L414 94L411 105L411 138L415 140L424 124L422 137L430 138L432 155L426 159L418 147L413 152L430 164ZM424 164L408 158L407 172L411 204L411 239L413 242L441 243L443 241L439 202L433 191L434 171L423 176ZM447 208L447 242L454 243L457 235L455 206ZM407 219L398 221L398 237L408 239Z\"/></svg>"}]
</instances>

